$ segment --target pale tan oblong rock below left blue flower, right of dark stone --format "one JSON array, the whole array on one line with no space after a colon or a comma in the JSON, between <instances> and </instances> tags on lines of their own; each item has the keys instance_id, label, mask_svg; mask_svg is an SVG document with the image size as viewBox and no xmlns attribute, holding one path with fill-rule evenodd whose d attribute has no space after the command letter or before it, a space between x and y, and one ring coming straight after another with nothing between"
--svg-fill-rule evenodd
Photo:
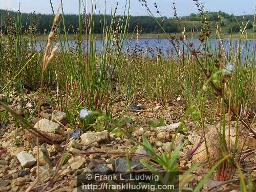
<instances>
[{"instance_id":1,"label":"pale tan oblong rock below left blue flower, right of dark stone","mask_svg":"<svg viewBox=\"0 0 256 192\"><path fill-rule=\"evenodd\" d=\"M102 132L84 133L81 135L81 139L84 144L88 145L94 142L108 142L110 141L110 136L108 131L104 130Z\"/></svg>"}]
</instances>

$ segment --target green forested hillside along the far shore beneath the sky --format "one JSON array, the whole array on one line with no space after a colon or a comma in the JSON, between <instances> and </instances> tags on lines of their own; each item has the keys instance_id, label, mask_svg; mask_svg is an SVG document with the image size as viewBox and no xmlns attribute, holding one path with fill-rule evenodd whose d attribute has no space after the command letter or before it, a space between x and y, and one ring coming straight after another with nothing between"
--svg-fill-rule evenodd
<instances>
[{"instance_id":1,"label":"green forested hillside along the far shore beneath the sky","mask_svg":"<svg viewBox=\"0 0 256 192\"><path fill-rule=\"evenodd\" d=\"M23 32L33 32L36 34L49 33L50 26L52 24L53 15L52 14L35 14L35 13L20 13L22 15L22 29ZM0 9L0 18L1 18L1 31L7 32L8 23L14 22L17 12L7 11ZM89 15L83 15L82 21L83 26L88 26ZM189 16L182 16L179 18L176 17L157 17L156 19L162 25L163 29L168 33L176 33L185 29L187 31L197 30L200 28L202 20L206 18L206 21L209 22L211 28L215 27L216 22L218 22L222 27L225 27L226 33L237 32L239 31L239 25L248 22L247 29L253 28L253 15L243 15L243 16L234 16L229 15L224 12L207 12L204 16L200 13L195 14L191 13ZM103 29L103 23L106 26L111 23L111 15L95 15L94 23L94 33L101 33ZM121 16L117 16L116 19L122 20ZM72 34L78 29L78 15L76 14L67 14L65 15L66 26L68 33ZM179 22L178 22L179 20ZM105 22L104 22L105 21ZM60 29L63 29L63 26L60 26ZM83 27L83 32L86 32L86 27ZM129 33L162 33L162 29L156 23L155 19L151 16L130 16L129 22ZM62 31L63 32L63 31Z\"/></svg>"}]
</instances>

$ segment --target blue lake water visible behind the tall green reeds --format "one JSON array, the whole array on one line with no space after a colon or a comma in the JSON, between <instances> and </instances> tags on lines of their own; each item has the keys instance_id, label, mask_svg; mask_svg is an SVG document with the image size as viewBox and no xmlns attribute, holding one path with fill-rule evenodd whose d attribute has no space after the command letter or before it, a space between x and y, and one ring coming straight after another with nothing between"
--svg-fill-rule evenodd
<instances>
[{"instance_id":1,"label":"blue lake water visible behind the tall green reeds","mask_svg":"<svg viewBox=\"0 0 256 192\"><path fill-rule=\"evenodd\" d=\"M96 50L97 53L100 53L102 50L102 42L101 39L96 39ZM193 43L193 48L196 50L208 50L209 53L216 53L221 47L225 50L226 56L230 53L230 40L229 39L210 39L207 45L200 44L200 41L197 38L194 39L186 39L185 42L188 44L189 42ZM32 42L33 46L36 46L36 50L40 50L45 47L46 41L36 41ZM35 45L36 44L36 45ZM65 45L66 49L70 47L70 49L76 50L76 42L75 40L68 40L68 41L61 41L62 45ZM114 42L111 46L116 46L118 42ZM105 47L106 45L104 45ZM181 41L175 42L176 48L179 50L179 53L182 54L183 52L186 54L189 53L188 49L183 46ZM183 49L184 48L184 49ZM82 41L82 49L83 52L86 53L89 49L89 40ZM241 54L242 61L245 58L249 60L253 59L255 61L255 50L256 50L256 40L255 39L248 39L242 40L240 43L240 50L239 50L239 41L238 39L231 40L231 51L233 56L238 55L238 51ZM143 56L147 57L154 57L160 54L162 57L169 57L169 56L177 56L176 51L173 45L168 41L166 38L139 38L139 39L131 39L127 38L124 39L122 52L129 55L134 55L140 53Z\"/></svg>"}]
</instances>

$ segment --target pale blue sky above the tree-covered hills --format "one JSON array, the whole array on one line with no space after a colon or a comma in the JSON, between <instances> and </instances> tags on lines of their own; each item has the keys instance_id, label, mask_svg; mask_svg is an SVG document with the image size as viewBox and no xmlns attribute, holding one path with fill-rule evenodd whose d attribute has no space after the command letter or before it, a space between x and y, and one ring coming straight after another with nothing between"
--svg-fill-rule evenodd
<instances>
[{"instance_id":1,"label":"pale blue sky above the tree-covered hills","mask_svg":"<svg viewBox=\"0 0 256 192\"><path fill-rule=\"evenodd\" d=\"M84 6L87 10L91 8L91 1L83 0ZM117 0L97 0L97 12L103 13L106 1L106 11L111 13L114 10ZM117 13L121 14L126 0L119 0ZM146 9L141 6L139 0L130 0L130 14L131 15L147 15ZM17 11L20 4L20 11L25 13L51 13L49 0L0 0L0 9ZM62 0L63 10L66 14L78 13L78 0ZM82 2L82 1L81 1ZM162 16L173 17L172 5L175 2L178 16L187 16L190 13L198 13L197 7L193 0L147 0L148 7L152 12L156 12L154 3L157 3L159 12ZM223 11L228 14L243 15L254 14L256 0L199 0L204 3L206 11ZM57 10L60 0L52 0L53 7ZM81 9L83 9L81 5ZM90 12L90 11L87 11Z\"/></svg>"}]
</instances>

